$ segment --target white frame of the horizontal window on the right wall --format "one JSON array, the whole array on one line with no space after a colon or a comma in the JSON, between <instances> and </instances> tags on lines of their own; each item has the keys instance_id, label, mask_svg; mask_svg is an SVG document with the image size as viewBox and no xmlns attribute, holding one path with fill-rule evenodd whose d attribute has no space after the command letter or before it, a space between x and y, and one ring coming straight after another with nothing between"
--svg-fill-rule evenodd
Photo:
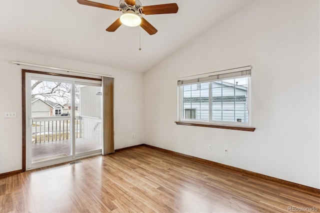
<instances>
[{"instance_id":1,"label":"white frame of the horizontal window on the right wall","mask_svg":"<svg viewBox=\"0 0 320 213\"><path fill-rule=\"evenodd\" d=\"M188 122L188 123L203 123L203 124L212 124L212 125L228 125L228 126L246 126L250 127L251 126L251 74L247 75L247 111L248 111L248 122L237 122L237 121L218 121L218 120L212 120L212 102L211 102L211 92L212 92L212 87L211 82L217 81L217 80L226 80L226 79L234 79L241 77L241 75L236 75L239 71L246 71L249 70L251 73L251 66L244 66L244 67L239 67L239 68L234 68L234 69L227 69L227 70L222 70L222 71L215 71L215 72L210 72L210 73L205 73L205 74L200 74L200 75L192 75L189 77L183 77L178 79L178 121L180 122ZM226 77L219 78L219 76L225 75ZM233 75L233 76L232 76ZM214 76L217 76L215 78ZM229 76L229 77L227 77ZM181 83L182 82L182 83ZM190 85L190 84L195 84L195 83L202 83L202 82L209 82L209 91L208 91L208 120L200 120L200 119L186 119L183 118L184 112L183 112L183 85Z\"/></svg>"}]
</instances>

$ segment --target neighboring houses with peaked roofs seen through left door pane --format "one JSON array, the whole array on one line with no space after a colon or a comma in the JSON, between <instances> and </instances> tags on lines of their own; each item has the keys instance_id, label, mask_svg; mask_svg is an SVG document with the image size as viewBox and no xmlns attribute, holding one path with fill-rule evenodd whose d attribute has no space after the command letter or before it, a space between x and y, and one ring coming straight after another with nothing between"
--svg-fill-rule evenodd
<instances>
[{"instance_id":1,"label":"neighboring houses with peaked roofs seen through left door pane","mask_svg":"<svg viewBox=\"0 0 320 213\"><path fill-rule=\"evenodd\" d=\"M43 116L61 116L62 113L69 115L69 113L63 110L68 109L61 103L55 103L50 100L42 100L41 98L32 98L31 102L31 116L43 117Z\"/></svg>"}]
</instances>

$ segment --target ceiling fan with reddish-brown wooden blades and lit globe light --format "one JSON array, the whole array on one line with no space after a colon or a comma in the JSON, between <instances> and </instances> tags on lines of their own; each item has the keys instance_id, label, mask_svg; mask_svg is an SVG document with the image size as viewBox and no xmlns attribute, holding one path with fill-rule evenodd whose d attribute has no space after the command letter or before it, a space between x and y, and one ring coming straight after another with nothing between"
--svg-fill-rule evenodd
<instances>
[{"instance_id":1,"label":"ceiling fan with reddish-brown wooden blades and lit globe light","mask_svg":"<svg viewBox=\"0 0 320 213\"><path fill-rule=\"evenodd\" d=\"M178 5L176 3L142 6L139 0L120 0L119 7L116 7L89 0L77 0L77 2L83 5L121 11L122 15L105 29L109 32L114 32L121 24L127 26L140 25L147 33L152 35L158 30L145 20L142 17L143 15L176 13L178 11Z\"/></svg>"}]
</instances>

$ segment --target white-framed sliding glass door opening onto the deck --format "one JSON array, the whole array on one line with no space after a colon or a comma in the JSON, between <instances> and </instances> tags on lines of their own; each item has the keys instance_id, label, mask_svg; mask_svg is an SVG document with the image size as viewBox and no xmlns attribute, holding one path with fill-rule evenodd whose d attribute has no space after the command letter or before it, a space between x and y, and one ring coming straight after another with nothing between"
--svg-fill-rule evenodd
<instances>
[{"instance_id":1,"label":"white-framed sliding glass door opening onto the deck","mask_svg":"<svg viewBox=\"0 0 320 213\"><path fill-rule=\"evenodd\" d=\"M101 81L26 73L26 169L100 154Z\"/></svg>"}]
</instances>

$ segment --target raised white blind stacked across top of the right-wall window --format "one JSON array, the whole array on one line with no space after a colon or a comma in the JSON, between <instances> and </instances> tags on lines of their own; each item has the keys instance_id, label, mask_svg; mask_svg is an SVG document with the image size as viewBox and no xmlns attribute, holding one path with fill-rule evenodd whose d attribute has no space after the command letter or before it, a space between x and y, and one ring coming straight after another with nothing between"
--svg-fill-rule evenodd
<instances>
[{"instance_id":1,"label":"raised white blind stacked across top of the right-wall window","mask_svg":"<svg viewBox=\"0 0 320 213\"><path fill-rule=\"evenodd\" d=\"M246 68L251 68L251 66L247 66ZM177 85L187 85L187 84L198 83L198 82L209 82L214 80L222 80L222 79L234 78L238 76L250 76L250 75L251 75L251 69L245 69L240 71L230 71L230 72L223 72L223 73L211 72L211 73L208 73L207 76L202 75L201 77L178 80Z\"/></svg>"}]
</instances>

